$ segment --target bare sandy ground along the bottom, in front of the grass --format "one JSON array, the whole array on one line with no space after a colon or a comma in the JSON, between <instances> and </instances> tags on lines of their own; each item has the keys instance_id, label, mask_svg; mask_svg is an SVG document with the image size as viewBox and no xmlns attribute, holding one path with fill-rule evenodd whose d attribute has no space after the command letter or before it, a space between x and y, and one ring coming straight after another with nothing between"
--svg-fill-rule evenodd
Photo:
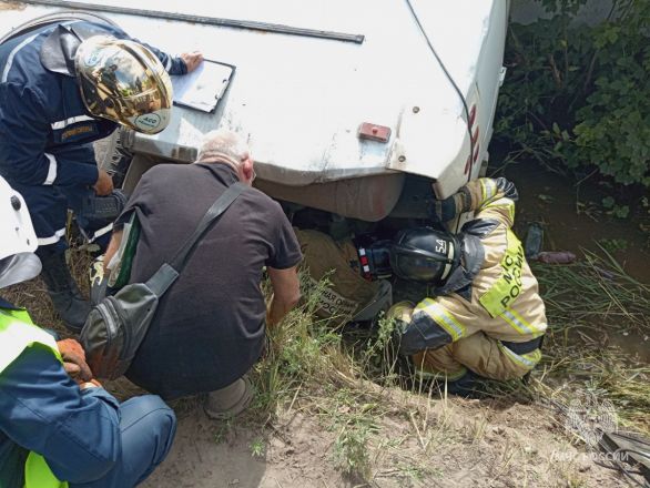
<instances>
[{"instance_id":1,"label":"bare sandy ground along the bottom, in front of the grass","mask_svg":"<svg viewBox=\"0 0 650 488\"><path fill-rule=\"evenodd\" d=\"M398 394L402 395L402 394ZM145 487L619 487L624 481L567 443L539 406L431 400L430 417L378 420L367 481L333 464L335 433L313 416L266 428L227 427L199 408L183 414L167 460ZM237 421L238 423L238 421ZM417 428L415 427L417 425ZM253 446L263 446L261 455Z\"/></svg>"}]
</instances>

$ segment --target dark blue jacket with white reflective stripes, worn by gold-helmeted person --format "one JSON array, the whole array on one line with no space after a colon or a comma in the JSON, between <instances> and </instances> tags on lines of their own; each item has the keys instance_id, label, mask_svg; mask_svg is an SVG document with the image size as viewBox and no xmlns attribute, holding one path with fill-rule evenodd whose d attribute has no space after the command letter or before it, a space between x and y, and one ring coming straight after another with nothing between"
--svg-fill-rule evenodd
<instances>
[{"instance_id":1,"label":"dark blue jacket with white reflective stripes, worn by gold-helmeted person","mask_svg":"<svg viewBox=\"0 0 650 488\"><path fill-rule=\"evenodd\" d=\"M118 124L91 118L77 79L51 72L41 63L43 42L57 26L35 29L0 45L0 174L28 185L92 185L98 179L94 153L92 148L81 146L111 134ZM131 39L109 24L77 21L70 26ZM170 74L186 71L180 58L148 48Z\"/></svg>"}]
</instances>

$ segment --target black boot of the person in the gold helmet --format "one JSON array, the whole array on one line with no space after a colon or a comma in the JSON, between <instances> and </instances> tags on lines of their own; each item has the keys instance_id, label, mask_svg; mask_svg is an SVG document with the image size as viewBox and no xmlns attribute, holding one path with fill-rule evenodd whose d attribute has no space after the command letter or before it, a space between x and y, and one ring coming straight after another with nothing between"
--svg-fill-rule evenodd
<instances>
[{"instance_id":1,"label":"black boot of the person in the gold helmet","mask_svg":"<svg viewBox=\"0 0 650 488\"><path fill-rule=\"evenodd\" d=\"M80 332L90 313L90 302L81 295L74 278L65 264L63 253L48 253L42 256L43 271L41 277L48 287L48 294L54 308L61 316L65 327Z\"/></svg>"}]
</instances>

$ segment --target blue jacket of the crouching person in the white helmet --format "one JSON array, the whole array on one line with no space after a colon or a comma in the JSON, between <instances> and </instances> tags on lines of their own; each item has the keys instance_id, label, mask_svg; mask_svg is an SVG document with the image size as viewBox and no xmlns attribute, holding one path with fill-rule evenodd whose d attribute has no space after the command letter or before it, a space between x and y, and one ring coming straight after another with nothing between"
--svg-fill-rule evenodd
<instances>
[{"instance_id":1,"label":"blue jacket of the crouching person in the white helmet","mask_svg":"<svg viewBox=\"0 0 650 488\"><path fill-rule=\"evenodd\" d=\"M0 309L13 307L0 298ZM119 409L103 388L80 390L51 350L26 348L0 374L0 487L23 487L30 450L59 479L101 478L121 461Z\"/></svg>"}]
</instances>

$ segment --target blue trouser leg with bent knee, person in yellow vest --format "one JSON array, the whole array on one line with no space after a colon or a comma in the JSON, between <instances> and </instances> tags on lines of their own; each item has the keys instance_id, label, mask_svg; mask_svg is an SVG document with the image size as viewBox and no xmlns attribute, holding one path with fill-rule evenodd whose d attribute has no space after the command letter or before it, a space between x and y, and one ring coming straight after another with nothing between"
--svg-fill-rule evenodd
<instances>
[{"instance_id":1,"label":"blue trouser leg with bent knee, person in yellow vest","mask_svg":"<svg viewBox=\"0 0 650 488\"><path fill-rule=\"evenodd\" d=\"M156 395L131 398L120 405L122 456L106 476L70 488L131 488L142 482L167 456L174 435L174 410Z\"/></svg>"}]
</instances>

